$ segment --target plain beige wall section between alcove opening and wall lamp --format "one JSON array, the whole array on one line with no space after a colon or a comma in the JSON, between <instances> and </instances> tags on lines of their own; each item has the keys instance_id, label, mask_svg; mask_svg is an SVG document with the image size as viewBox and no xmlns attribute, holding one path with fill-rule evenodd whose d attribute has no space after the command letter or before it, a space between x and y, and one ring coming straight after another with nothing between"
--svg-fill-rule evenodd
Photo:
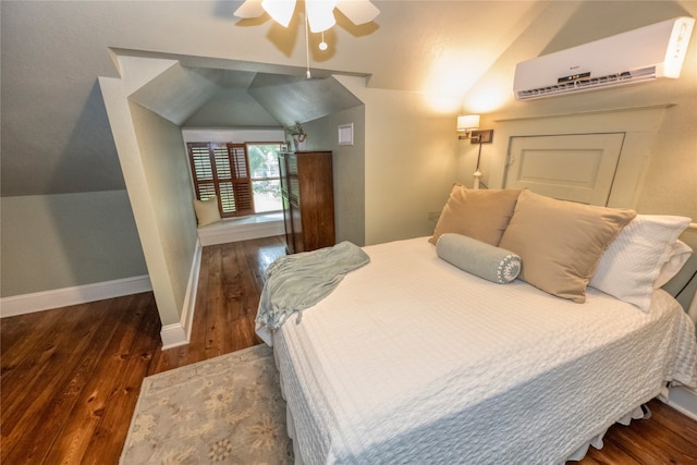
<instances>
[{"instance_id":1,"label":"plain beige wall section between alcove opening and wall lamp","mask_svg":"<svg viewBox=\"0 0 697 465\"><path fill-rule=\"evenodd\" d=\"M455 181L454 120L435 113L424 95L371 89L338 76L365 103L366 244L428 235Z\"/></svg>"}]
</instances>

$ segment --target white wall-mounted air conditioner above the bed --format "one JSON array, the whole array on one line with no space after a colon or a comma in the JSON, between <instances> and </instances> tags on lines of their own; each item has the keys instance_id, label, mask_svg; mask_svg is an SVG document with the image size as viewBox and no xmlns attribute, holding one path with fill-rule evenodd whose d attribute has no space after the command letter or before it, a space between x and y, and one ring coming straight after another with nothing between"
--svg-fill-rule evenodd
<instances>
[{"instance_id":1,"label":"white wall-mounted air conditioner above the bed","mask_svg":"<svg viewBox=\"0 0 697 465\"><path fill-rule=\"evenodd\" d=\"M516 100L530 100L658 77L678 77L693 17L676 17L523 61L515 66Z\"/></svg>"}]
</instances>

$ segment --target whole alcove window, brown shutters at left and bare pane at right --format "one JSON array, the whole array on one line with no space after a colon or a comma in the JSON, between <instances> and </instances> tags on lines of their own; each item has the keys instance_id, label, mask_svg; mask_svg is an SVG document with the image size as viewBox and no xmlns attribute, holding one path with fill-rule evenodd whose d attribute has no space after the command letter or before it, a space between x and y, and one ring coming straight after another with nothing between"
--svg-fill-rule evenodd
<instances>
[{"instance_id":1,"label":"whole alcove window, brown shutters at left and bare pane at right","mask_svg":"<svg viewBox=\"0 0 697 465\"><path fill-rule=\"evenodd\" d=\"M220 216L281 210L280 143L188 143L196 198L218 197Z\"/></svg>"}]
</instances>

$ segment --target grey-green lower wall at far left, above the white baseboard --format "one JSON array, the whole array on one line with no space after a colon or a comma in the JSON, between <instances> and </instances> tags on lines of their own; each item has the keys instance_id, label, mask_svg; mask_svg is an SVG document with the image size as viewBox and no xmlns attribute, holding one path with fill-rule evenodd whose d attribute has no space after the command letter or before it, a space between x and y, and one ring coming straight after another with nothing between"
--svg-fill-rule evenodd
<instances>
[{"instance_id":1,"label":"grey-green lower wall at far left, above the white baseboard","mask_svg":"<svg viewBox=\"0 0 697 465\"><path fill-rule=\"evenodd\" d=\"M2 197L1 296L147 274L125 191Z\"/></svg>"}]
</instances>

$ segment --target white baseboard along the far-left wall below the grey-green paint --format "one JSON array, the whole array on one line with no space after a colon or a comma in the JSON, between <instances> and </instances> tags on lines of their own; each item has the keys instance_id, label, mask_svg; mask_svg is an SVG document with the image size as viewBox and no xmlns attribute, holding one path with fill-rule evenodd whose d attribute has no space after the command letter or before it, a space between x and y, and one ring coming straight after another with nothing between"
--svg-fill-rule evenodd
<instances>
[{"instance_id":1,"label":"white baseboard along the far-left wall below the grey-green paint","mask_svg":"<svg viewBox=\"0 0 697 465\"><path fill-rule=\"evenodd\" d=\"M0 318L152 291L147 274L0 298Z\"/></svg>"}]
</instances>

